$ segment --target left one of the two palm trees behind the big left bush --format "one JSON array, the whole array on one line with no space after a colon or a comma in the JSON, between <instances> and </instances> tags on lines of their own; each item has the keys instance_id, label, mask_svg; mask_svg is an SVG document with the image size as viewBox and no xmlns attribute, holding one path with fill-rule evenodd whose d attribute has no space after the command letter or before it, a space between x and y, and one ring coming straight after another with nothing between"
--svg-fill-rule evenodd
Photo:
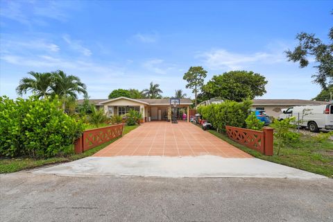
<instances>
[{"instance_id":1,"label":"left one of the two palm trees behind the big left bush","mask_svg":"<svg viewBox=\"0 0 333 222\"><path fill-rule=\"evenodd\" d=\"M34 78L24 77L19 80L19 85L16 88L17 94L22 96L23 94L26 94L26 92L32 92L37 98L45 98L48 96L51 89L52 74L34 71L29 71L28 74Z\"/></svg>"}]
</instances>

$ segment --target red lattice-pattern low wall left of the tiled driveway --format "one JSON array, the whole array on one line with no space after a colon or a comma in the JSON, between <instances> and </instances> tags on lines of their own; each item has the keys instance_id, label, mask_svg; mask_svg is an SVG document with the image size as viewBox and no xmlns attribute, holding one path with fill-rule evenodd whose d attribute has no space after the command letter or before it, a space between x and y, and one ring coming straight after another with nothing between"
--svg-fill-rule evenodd
<instances>
[{"instance_id":1,"label":"red lattice-pattern low wall left of the tiled driveway","mask_svg":"<svg viewBox=\"0 0 333 222\"><path fill-rule=\"evenodd\" d=\"M123 126L124 124L117 124L92 130L85 130L82 133L82 136L76 139L76 142L74 143L75 153L83 153L84 151L99 146L110 141L111 139L120 137L123 135Z\"/></svg>"}]
</instances>

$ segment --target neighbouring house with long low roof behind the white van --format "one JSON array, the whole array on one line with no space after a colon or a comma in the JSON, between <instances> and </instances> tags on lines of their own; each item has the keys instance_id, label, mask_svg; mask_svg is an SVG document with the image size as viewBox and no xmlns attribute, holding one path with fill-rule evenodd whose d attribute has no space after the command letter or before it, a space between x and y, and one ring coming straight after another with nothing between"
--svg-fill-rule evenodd
<instances>
[{"instance_id":1,"label":"neighbouring house with long low roof behind the white van","mask_svg":"<svg viewBox=\"0 0 333 222\"><path fill-rule=\"evenodd\" d=\"M253 99L253 110L265 110L266 114L278 118L282 109L296 105L320 105L322 101L312 101L303 99Z\"/></svg>"}]
</instances>

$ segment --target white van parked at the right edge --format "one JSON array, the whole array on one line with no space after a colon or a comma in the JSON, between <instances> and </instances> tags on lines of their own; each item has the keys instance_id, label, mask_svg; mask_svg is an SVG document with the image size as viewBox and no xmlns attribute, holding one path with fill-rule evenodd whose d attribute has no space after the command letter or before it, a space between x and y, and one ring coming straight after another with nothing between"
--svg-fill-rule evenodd
<instances>
[{"instance_id":1,"label":"white van parked at the right edge","mask_svg":"<svg viewBox=\"0 0 333 222\"><path fill-rule=\"evenodd\" d=\"M333 130L333 103L290 107L280 114L279 120L289 117L302 120L300 126L308 127L311 132L318 132L321 128Z\"/></svg>"}]
</instances>

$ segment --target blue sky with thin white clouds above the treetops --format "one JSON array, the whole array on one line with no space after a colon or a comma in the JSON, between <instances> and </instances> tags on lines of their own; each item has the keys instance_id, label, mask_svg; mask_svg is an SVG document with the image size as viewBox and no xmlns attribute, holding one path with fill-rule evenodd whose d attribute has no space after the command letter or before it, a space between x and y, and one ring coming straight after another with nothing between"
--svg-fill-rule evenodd
<instances>
[{"instance_id":1,"label":"blue sky with thin white clouds above the treetops","mask_svg":"<svg viewBox=\"0 0 333 222\"><path fill-rule=\"evenodd\" d=\"M185 89L183 74L230 70L268 80L261 99L311 99L316 72L287 62L301 31L327 42L332 1L0 1L0 95L28 71L79 76L92 99L112 89ZM193 97L193 96L192 96Z\"/></svg>"}]
</instances>

